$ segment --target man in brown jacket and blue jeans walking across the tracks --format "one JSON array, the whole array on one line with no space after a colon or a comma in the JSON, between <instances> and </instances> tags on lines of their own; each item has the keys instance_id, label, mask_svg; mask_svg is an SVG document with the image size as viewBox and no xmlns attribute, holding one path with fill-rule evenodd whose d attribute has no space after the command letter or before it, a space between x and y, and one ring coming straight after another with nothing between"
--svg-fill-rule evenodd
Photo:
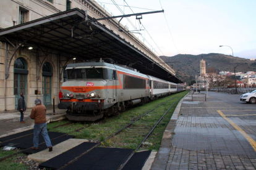
<instances>
[{"instance_id":1,"label":"man in brown jacket and blue jeans walking across the tracks","mask_svg":"<svg viewBox=\"0 0 256 170\"><path fill-rule=\"evenodd\" d=\"M36 106L32 108L30 113L30 118L35 120L32 149L38 150L39 134L41 134L43 139L45 139L45 144L49 148L49 152L51 152L53 147L51 145L51 140L49 139L46 127L46 107L45 105L42 105L40 99L35 100L35 105Z\"/></svg>"}]
</instances>

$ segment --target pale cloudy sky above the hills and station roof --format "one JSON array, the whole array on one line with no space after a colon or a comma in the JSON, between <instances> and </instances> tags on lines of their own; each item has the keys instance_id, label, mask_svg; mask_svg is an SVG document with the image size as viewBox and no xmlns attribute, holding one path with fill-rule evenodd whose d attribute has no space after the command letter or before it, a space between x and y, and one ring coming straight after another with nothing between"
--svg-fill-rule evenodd
<instances>
[{"instance_id":1,"label":"pale cloudy sky above the hills and station roof","mask_svg":"<svg viewBox=\"0 0 256 170\"><path fill-rule=\"evenodd\" d=\"M156 55L232 55L233 51L235 57L256 59L256 0L95 1L113 16L164 10L140 20L135 16L121 20Z\"/></svg>"}]
</instances>

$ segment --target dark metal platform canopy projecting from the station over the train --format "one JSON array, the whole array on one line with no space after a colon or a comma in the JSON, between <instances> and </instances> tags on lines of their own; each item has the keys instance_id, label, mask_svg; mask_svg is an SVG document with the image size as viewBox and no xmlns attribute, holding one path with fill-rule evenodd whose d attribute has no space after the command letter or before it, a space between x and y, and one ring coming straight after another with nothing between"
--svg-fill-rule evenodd
<instances>
[{"instance_id":1,"label":"dark metal platform canopy projecting from the station over the train","mask_svg":"<svg viewBox=\"0 0 256 170\"><path fill-rule=\"evenodd\" d=\"M32 46L80 61L108 58L121 65L130 65L140 73L182 83L181 79L150 59L126 39L100 22L85 18L85 11L71 9L31 22L0 30L0 41ZM90 22L86 22L90 21Z\"/></svg>"}]
</instances>

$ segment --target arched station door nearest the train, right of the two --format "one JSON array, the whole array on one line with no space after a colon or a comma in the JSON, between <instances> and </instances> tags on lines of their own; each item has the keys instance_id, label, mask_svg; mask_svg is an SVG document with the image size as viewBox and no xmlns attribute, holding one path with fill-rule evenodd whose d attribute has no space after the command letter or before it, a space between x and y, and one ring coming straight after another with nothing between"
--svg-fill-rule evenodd
<instances>
[{"instance_id":1,"label":"arched station door nearest the train, right of the two","mask_svg":"<svg viewBox=\"0 0 256 170\"><path fill-rule=\"evenodd\" d=\"M43 92L43 104L51 105L51 66L49 63L43 65L43 79L42 79L42 92Z\"/></svg>"}]
</instances>

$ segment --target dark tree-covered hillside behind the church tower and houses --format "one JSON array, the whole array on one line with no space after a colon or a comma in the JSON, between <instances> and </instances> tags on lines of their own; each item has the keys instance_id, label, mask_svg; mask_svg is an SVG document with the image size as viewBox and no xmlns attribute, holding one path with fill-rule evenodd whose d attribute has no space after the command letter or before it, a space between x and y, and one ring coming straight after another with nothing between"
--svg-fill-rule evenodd
<instances>
[{"instance_id":1,"label":"dark tree-covered hillside behind the church tower and houses","mask_svg":"<svg viewBox=\"0 0 256 170\"><path fill-rule=\"evenodd\" d=\"M232 55L224 54L178 54L173 57L160 56L164 62L176 71L176 76L184 82L190 83L195 79L195 75L200 73L200 60L205 60L206 68L215 68L216 71L234 72L234 63ZM236 72L256 71L256 61L234 57Z\"/></svg>"}]
</instances>

